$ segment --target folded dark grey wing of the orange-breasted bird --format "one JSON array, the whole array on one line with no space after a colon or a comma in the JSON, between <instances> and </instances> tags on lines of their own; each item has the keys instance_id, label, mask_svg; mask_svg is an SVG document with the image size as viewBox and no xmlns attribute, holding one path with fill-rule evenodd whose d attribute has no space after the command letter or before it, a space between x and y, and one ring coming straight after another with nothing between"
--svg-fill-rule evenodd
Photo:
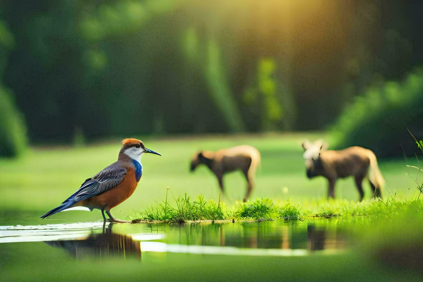
<instances>
[{"instance_id":1,"label":"folded dark grey wing of the orange-breasted bird","mask_svg":"<svg viewBox=\"0 0 423 282\"><path fill-rule=\"evenodd\" d=\"M127 170L116 162L110 164L90 180L85 181L74 196L79 202L118 186L124 180Z\"/></svg>"}]
</instances>

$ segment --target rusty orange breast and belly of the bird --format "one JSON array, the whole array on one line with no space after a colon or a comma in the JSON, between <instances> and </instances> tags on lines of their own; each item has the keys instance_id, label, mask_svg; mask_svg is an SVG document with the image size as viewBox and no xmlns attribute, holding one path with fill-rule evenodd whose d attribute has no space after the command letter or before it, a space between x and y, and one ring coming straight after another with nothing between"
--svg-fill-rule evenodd
<instances>
[{"instance_id":1,"label":"rusty orange breast and belly of the bird","mask_svg":"<svg viewBox=\"0 0 423 282\"><path fill-rule=\"evenodd\" d=\"M107 190L97 196L85 199L77 203L76 205L82 205L88 208L98 208L110 210L111 208L119 205L124 200L128 199L135 188L137 188L138 182L135 180L135 171L128 170L124 180L115 188Z\"/></svg>"}]
</instances>

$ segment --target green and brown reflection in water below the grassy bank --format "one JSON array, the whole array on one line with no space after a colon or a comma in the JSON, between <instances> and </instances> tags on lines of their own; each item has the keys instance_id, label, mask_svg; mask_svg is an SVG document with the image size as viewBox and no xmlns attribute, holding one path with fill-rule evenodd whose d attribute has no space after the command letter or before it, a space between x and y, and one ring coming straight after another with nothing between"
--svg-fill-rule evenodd
<instances>
[{"instance_id":1,"label":"green and brown reflection in water below the grassy bank","mask_svg":"<svg viewBox=\"0 0 423 282\"><path fill-rule=\"evenodd\" d=\"M172 229L173 234L167 238L168 244L310 251L347 248L344 230L313 223L202 223L173 225ZM176 233L176 230L179 232Z\"/></svg>"}]
</instances>

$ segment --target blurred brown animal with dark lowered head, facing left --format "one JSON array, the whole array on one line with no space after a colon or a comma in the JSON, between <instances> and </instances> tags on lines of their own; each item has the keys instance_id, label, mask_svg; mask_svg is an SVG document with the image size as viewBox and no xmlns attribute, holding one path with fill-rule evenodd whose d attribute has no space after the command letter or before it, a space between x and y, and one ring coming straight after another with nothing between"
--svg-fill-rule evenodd
<instances>
[{"instance_id":1,"label":"blurred brown animal with dark lowered head, facing left","mask_svg":"<svg viewBox=\"0 0 423 282\"><path fill-rule=\"evenodd\" d=\"M226 172L241 170L247 179L247 193L244 202L250 197L254 187L255 170L260 164L260 153L254 147L248 145L222 149L216 152L200 151L191 159L191 171L199 164L205 164L216 175L219 187L224 192L223 175Z\"/></svg>"}]
</instances>

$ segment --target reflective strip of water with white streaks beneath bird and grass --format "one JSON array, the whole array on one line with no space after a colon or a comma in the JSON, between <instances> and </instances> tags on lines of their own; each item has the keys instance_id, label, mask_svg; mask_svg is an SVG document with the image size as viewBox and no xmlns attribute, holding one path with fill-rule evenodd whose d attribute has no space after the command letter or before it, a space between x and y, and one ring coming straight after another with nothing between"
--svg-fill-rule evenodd
<instances>
[{"instance_id":1,"label":"reflective strip of water with white streaks beneath bird and grass","mask_svg":"<svg viewBox=\"0 0 423 282\"><path fill-rule=\"evenodd\" d=\"M345 234L334 225L313 222L71 224L0 226L0 244L44 242L81 257L141 257L143 252L208 255L305 256L347 248Z\"/></svg>"}]
</instances>

